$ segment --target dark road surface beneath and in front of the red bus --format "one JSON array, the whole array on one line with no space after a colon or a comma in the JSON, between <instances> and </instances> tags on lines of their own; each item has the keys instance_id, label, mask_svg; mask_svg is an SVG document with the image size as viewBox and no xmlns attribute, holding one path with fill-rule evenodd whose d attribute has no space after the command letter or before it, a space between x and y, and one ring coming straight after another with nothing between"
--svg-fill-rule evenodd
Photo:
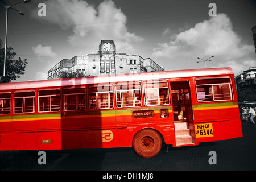
<instances>
[{"instance_id":1,"label":"dark road surface beneath and in front of the red bus","mask_svg":"<svg viewBox=\"0 0 256 182\"><path fill-rule=\"evenodd\" d=\"M242 130L242 138L200 143L199 146L177 148L168 146L168 152L163 148L154 158L142 158L135 154L132 148L60 150L46 151L46 164L39 165L38 160L41 155L38 155L38 151L0 151L0 170L254 171L256 170L256 126L242 122ZM209 159L213 156L209 155L210 151L216 152L214 155L216 164L209 164Z\"/></svg>"}]
</instances>

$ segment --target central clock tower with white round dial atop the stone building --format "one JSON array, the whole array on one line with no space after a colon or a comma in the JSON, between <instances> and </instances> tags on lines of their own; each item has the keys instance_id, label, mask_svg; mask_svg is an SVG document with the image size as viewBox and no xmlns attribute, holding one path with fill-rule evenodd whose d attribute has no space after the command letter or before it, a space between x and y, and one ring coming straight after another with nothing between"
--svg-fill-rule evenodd
<instances>
[{"instance_id":1,"label":"central clock tower with white round dial atop the stone building","mask_svg":"<svg viewBox=\"0 0 256 182\"><path fill-rule=\"evenodd\" d=\"M114 40L101 40L99 46L100 75L115 74L115 53Z\"/></svg>"}]
</instances>

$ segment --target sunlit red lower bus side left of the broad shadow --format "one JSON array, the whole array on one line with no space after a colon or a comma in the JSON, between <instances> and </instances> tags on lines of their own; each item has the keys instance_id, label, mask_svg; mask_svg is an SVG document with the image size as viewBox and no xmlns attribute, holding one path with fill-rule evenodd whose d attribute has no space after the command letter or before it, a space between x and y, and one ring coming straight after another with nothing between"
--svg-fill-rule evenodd
<instances>
[{"instance_id":1,"label":"sunlit red lower bus side left of the broad shadow","mask_svg":"<svg viewBox=\"0 0 256 182\"><path fill-rule=\"evenodd\" d=\"M61 149L60 120L33 119L23 116L20 119L2 120L0 122L0 150Z\"/></svg>"}]
</instances>

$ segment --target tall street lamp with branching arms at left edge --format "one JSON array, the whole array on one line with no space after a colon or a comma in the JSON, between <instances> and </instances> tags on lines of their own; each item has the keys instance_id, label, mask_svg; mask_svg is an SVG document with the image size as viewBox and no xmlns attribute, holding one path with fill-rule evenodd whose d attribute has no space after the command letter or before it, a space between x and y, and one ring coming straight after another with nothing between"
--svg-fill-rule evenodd
<instances>
[{"instance_id":1,"label":"tall street lamp with branching arms at left edge","mask_svg":"<svg viewBox=\"0 0 256 182\"><path fill-rule=\"evenodd\" d=\"M3 2L3 0L1 0L1 1ZM22 2L24 2L24 3L28 3L28 2L30 2L30 1L31 1L31 0L23 0L23 1L20 1L20 2L17 2L17 3L14 3L13 5L17 5L17 4L22 3ZM6 63L6 49L7 49L8 10L9 10L9 8L10 8L10 9L13 9L13 10L15 10L15 11L18 11L18 12L19 12L19 14L20 14L20 15L22 15L22 16L24 16L25 14L24 14L24 13L22 13L21 11L16 10L16 9L14 9L13 7L11 7L11 6L13 6L13 5L6 5L6 3L5 3L5 2L3 2L3 4L5 5L5 8L6 8L6 25L5 25L5 57L4 57L4 60L3 60L3 77L5 77L5 63Z\"/></svg>"}]
</instances>

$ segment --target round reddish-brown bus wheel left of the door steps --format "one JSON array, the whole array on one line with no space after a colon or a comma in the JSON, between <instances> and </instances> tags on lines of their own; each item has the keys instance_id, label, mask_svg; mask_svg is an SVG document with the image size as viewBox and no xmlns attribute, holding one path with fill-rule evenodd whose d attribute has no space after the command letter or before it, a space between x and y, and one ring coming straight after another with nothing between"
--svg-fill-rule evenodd
<instances>
[{"instance_id":1,"label":"round reddish-brown bus wheel left of the door steps","mask_svg":"<svg viewBox=\"0 0 256 182\"><path fill-rule=\"evenodd\" d=\"M162 139L157 131L143 129L135 134L133 148L137 154L144 158L151 158L158 154L162 148Z\"/></svg>"}]
</instances>

